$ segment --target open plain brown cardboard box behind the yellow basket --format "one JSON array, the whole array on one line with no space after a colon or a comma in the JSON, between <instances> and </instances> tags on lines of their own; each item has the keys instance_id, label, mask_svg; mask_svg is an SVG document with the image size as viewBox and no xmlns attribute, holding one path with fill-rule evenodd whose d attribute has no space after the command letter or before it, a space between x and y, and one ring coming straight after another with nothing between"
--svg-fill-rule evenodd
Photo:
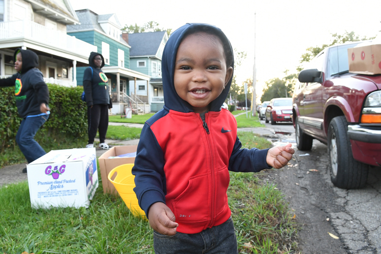
<instances>
[{"instance_id":1,"label":"open plain brown cardboard box behind the yellow basket","mask_svg":"<svg viewBox=\"0 0 381 254\"><path fill-rule=\"evenodd\" d=\"M138 148L137 145L113 146L98 158L104 193L111 193L111 194L118 195L118 192L115 189L114 185L108 179L108 175L111 170L123 164L135 163L135 157L130 157L130 158L127 158L127 157L109 158L109 157L118 156L125 153L136 152L137 148Z\"/></svg>"}]
</instances>

